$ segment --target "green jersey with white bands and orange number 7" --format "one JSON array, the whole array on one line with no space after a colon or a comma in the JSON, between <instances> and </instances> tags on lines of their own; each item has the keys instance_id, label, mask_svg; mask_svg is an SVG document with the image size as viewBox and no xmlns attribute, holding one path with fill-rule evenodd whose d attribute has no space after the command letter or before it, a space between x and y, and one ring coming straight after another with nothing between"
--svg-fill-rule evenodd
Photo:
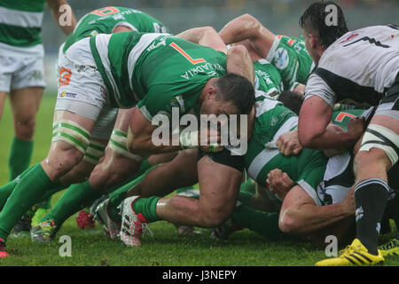
<instances>
[{"instance_id":1,"label":"green jersey with white bands and orange number 7","mask_svg":"<svg viewBox=\"0 0 399 284\"><path fill-rule=\"evenodd\" d=\"M138 107L148 120L196 105L212 77L226 74L223 52L168 34L122 32L90 37L90 49L115 107Z\"/></svg>"}]
</instances>

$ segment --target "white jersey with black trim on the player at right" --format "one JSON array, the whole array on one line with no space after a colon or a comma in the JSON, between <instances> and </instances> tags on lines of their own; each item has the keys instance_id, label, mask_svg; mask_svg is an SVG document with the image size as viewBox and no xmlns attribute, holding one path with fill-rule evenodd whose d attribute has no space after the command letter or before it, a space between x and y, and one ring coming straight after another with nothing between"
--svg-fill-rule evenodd
<instances>
[{"instance_id":1,"label":"white jersey with black trim on the player at right","mask_svg":"<svg viewBox=\"0 0 399 284\"><path fill-rule=\"evenodd\" d=\"M309 76L305 99L319 96L333 106L351 99L379 104L399 72L399 25L348 32L332 43Z\"/></svg>"}]
</instances>

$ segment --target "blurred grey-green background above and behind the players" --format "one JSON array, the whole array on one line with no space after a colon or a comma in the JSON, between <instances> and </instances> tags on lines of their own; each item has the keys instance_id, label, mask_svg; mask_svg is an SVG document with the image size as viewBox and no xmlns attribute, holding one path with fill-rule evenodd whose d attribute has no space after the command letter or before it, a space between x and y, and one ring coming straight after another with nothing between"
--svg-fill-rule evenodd
<instances>
[{"instance_id":1,"label":"blurred grey-green background above and behind the players","mask_svg":"<svg viewBox=\"0 0 399 284\"><path fill-rule=\"evenodd\" d=\"M301 13L315 1L309 0L68 0L79 20L82 15L110 5L147 12L163 22L172 34L188 28L212 26L220 30L231 19L250 13L275 34L301 35ZM399 0L341 0L349 29L399 23ZM56 95L55 60L65 36L49 11L43 17L43 43L46 51L46 93Z\"/></svg>"}]
</instances>

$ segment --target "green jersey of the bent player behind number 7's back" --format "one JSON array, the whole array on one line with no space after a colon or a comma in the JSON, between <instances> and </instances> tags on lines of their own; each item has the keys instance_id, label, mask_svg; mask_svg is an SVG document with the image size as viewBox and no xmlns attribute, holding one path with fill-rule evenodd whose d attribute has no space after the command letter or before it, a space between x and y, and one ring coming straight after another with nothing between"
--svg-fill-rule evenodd
<instances>
[{"instance_id":1,"label":"green jersey of the bent player behind number 7's back","mask_svg":"<svg viewBox=\"0 0 399 284\"><path fill-rule=\"evenodd\" d=\"M74 32L66 38L63 51L84 37L98 34L112 34L118 26L126 26L137 32L167 33L159 20L135 9L123 7L105 7L89 12L76 24Z\"/></svg>"}]
</instances>

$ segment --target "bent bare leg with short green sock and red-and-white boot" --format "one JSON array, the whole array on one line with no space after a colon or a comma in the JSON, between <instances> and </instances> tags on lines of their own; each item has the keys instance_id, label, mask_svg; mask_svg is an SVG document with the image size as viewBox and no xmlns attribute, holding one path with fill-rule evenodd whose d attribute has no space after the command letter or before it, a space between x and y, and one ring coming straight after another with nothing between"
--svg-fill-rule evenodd
<instances>
[{"instance_id":1,"label":"bent bare leg with short green sock and red-and-white boot","mask_svg":"<svg viewBox=\"0 0 399 284\"><path fill-rule=\"evenodd\" d=\"M174 195L168 198L133 196L123 201L121 241L128 246L140 245L143 225L158 220L209 228L222 224L236 204L242 173L213 162L209 157L201 158L198 169L201 177L199 200ZM227 180L228 185L217 185L218 181L225 183Z\"/></svg>"}]
</instances>

